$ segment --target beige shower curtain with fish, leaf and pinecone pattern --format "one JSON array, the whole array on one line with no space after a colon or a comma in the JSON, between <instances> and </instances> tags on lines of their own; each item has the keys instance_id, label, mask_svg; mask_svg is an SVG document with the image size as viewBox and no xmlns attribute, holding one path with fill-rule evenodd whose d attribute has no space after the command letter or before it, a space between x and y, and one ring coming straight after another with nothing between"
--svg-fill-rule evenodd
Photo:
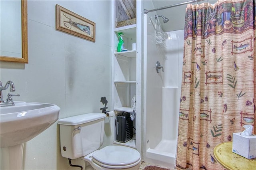
<instances>
[{"instance_id":1,"label":"beige shower curtain with fish, leaf and pinecone pattern","mask_svg":"<svg viewBox=\"0 0 256 170\"><path fill-rule=\"evenodd\" d=\"M255 3L186 8L177 169L224 169L214 147L232 141L244 125L256 134Z\"/></svg>"}]
</instances>

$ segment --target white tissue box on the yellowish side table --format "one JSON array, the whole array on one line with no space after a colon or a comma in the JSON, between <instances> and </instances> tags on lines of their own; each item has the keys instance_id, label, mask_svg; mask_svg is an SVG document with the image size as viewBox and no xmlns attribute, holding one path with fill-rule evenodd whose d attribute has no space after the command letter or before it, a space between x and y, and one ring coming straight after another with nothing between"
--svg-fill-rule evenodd
<instances>
[{"instance_id":1,"label":"white tissue box on the yellowish side table","mask_svg":"<svg viewBox=\"0 0 256 170\"><path fill-rule=\"evenodd\" d=\"M232 152L247 159L256 158L256 135L241 136L241 132L233 133Z\"/></svg>"}]
</instances>

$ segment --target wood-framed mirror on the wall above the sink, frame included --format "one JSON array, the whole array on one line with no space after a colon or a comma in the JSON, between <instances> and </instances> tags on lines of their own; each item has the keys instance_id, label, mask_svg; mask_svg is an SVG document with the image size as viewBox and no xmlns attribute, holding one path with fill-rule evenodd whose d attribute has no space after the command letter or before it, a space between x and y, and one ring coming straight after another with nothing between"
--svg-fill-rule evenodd
<instances>
[{"instance_id":1,"label":"wood-framed mirror on the wall above the sink, frame included","mask_svg":"<svg viewBox=\"0 0 256 170\"><path fill-rule=\"evenodd\" d=\"M7 9L7 7L4 6L5 4L3 4L2 2L0 4L1 9L3 9L3 8ZM6 1L6 2L8 2L8 1ZM9 23L10 21L12 21L9 18L10 15L6 14L6 13L2 14L3 10L1 10L1 21L3 21L2 17L8 16L8 17L6 17L8 22L7 23L3 23L3 22L1 23L1 30L4 30L4 26L6 26L6 25L8 25L8 26L16 26L17 25L15 28L19 28L19 26L21 26L20 31L19 30L17 31L18 34L20 34L20 35L16 36L16 34L14 32L12 32L12 33L5 33L4 34L1 31L1 44L2 45L1 45L0 61L11 61L11 62L18 62L18 63L28 63L28 12L27 12L27 0L20 0L20 2L19 1L10 1L10 2L14 2L14 6L12 6L12 10L6 10L6 11L12 11L12 13L15 13L15 11L18 11L21 14L21 16L17 15L17 14L10 14L10 15L14 15L14 17L16 16L17 19L14 19L14 21L20 20L20 17L21 17L21 20L20 20L19 23ZM19 8L16 9L17 4L20 4L21 12L20 12ZM12 28L12 27L9 27L9 28ZM12 34L14 34L14 35L12 35ZM9 37L9 39L11 40L11 41L9 41L8 38L7 38L7 40L6 39L2 39L2 37L5 37L5 36L2 36L2 35L12 35L12 36L14 36L14 38L10 38L10 36L6 36L6 37ZM19 38L19 36L21 36L21 37ZM18 42L14 42L13 39L18 40ZM8 44L8 42L10 44ZM5 50L5 51L4 51L4 49L2 50L2 46L6 46L7 50ZM14 46L14 48L12 48L11 46ZM10 49L13 49L13 51L10 50ZM19 50L19 49L21 49L21 50ZM18 53L20 53L20 54L18 54ZM4 54L4 55L2 55L2 54Z\"/></svg>"}]
</instances>

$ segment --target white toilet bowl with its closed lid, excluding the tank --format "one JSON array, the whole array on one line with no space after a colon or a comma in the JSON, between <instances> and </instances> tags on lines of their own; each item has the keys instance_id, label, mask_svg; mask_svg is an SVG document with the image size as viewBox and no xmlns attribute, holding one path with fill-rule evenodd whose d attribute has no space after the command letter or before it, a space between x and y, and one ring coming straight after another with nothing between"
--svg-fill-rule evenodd
<instances>
[{"instance_id":1,"label":"white toilet bowl with its closed lid, excluding the tank","mask_svg":"<svg viewBox=\"0 0 256 170\"><path fill-rule=\"evenodd\" d=\"M84 156L84 160L96 170L138 170L141 157L137 150L126 146L106 146Z\"/></svg>"}]
</instances>

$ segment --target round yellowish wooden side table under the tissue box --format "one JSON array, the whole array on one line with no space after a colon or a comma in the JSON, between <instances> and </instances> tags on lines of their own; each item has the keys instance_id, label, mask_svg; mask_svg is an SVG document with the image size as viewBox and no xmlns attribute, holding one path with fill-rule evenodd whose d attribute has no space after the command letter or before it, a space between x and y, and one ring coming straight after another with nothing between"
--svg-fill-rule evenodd
<instances>
[{"instance_id":1,"label":"round yellowish wooden side table under the tissue box","mask_svg":"<svg viewBox=\"0 0 256 170\"><path fill-rule=\"evenodd\" d=\"M256 158L247 159L232 152L232 142L215 146L215 159L227 170L256 170Z\"/></svg>"}]
</instances>

